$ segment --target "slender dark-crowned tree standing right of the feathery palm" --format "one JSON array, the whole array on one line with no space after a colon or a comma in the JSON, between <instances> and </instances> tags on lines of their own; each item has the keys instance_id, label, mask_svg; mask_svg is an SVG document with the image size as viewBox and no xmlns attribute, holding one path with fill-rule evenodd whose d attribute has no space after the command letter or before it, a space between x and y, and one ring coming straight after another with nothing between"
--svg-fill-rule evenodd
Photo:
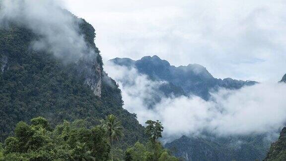
<instances>
[{"instance_id":1,"label":"slender dark-crowned tree standing right of the feathery palm","mask_svg":"<svg viewBox=\"0 0 286 161\"><path fill-rule=\"evenodd\" d=\"M156 143L157 139L162 138L162 132L164 127L162 126L162 123L157 121L152 121L152 120L147 120L145 122L147 124L145 128L145 133L149 137L150 142L152 143L153 147L153 161L155 160L155 152L156 152Z\"/></svg>"}]
</instances>

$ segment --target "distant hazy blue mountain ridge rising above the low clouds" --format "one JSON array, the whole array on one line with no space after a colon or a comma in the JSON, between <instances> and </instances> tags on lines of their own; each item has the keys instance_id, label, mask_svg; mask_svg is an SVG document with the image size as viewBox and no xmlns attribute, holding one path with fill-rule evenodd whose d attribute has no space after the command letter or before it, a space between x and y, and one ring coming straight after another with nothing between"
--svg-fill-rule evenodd
<instances>
[{"instance_id":1,"label":"distant hazy blue mountain ridge rising above the low clouds","mask_svg":"<svg viewBox=\"0 0 286 161\"><path fill-rule=\"evenodd\" d=\"M195 94L206 100L209 99L210 92L219 87L238 89L257 83L256 81L233 80L231 78L216 79L201 65L189 64L188 66L175 67L158 56L146 56L137 61L129 58L115 58L110 62L128 68L135 67L139 73L145 74L151 79L167 81L183 89L187 94Z\"/></svg>"}]
</instances>

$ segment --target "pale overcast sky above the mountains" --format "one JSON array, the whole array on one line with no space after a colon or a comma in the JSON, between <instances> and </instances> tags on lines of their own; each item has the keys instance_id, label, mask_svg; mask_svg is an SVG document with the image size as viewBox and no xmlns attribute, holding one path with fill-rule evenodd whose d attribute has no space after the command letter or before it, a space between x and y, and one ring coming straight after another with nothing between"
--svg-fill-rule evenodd
<instances>
[{"instance_id":1,"label":"pale overcast sky above the mountains","mask_svg":"<svg viewBox=\"0 0 286 161\"><path fill-rule=\"evenodd\" d=\"M62 0L96 29L104 62L158 55L216 78L276 82L286 73L285 0Z\"/></svg>"}]
</instances>

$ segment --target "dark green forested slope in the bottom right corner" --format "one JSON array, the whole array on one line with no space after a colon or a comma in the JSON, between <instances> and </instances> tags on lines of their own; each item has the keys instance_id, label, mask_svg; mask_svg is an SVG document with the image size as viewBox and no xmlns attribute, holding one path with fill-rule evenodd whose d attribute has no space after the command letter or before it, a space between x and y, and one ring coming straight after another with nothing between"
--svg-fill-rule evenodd
<instances>
[{"instance_id":1,"label":"dark green forested slope in the bottom right corner","mask_svg":"<svg viewBox=\"0 0 286 161\"><path fill-rule=\"evenodd\" d=\"M286 161L286 127L282 129L278 141L271 145L265 161Z\"/></svg>"}]
</instances>

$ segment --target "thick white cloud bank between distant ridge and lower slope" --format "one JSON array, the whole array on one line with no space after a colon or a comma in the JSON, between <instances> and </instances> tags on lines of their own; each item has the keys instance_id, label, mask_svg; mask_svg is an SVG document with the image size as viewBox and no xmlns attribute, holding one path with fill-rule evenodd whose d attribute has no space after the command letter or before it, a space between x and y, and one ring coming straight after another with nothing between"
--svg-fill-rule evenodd
<instances>
[{"instance_id":1,"label":"thick white cloud bank between distant ridge and lower slope","mask_svg":"<svg viewBox=\"0 0 286 161\"><path fill-rule=\"evenodd\" d=\"M140 123L160 120L163 137L275 134L286 123L286 84L259 83L239 90L220 89L210 101L197 96L163 97L152 109L144 103L160 81L149 80L134 68L107 64L105 69L122 90L124 108L136 113ZM120 71L120 72L118 72ZM133 83L123 83L132 81ZM150 98L151 99L151 98Z\"/></svg>"}]
</instances>

